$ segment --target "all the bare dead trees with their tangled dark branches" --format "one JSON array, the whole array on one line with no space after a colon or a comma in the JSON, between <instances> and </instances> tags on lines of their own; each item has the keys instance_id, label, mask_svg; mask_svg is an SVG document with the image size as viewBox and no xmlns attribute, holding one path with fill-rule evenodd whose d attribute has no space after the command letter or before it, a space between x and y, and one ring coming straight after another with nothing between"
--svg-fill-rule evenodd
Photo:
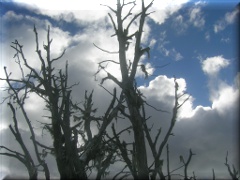
<instances>
[{"instance_id":1,"label":"all the bare dead trees with their tangled dark branches","mask_svg":"<svg viewBox=\"0 0 240 180\"><path fill-rule=\"evenodd\" d=\"M141 1L141 11L133 15L132 10L136 6L136 1L125 3L123 0L117 0L117 8L114 9L107 6L116 16L109 13L109 18L114 28L114 36L118 39L118 60L105 60L99 63L99 70L106 72L107 76L102 79L101 87L103 87L112 99L106 106L106 111L102 116L97 116L97 108L93 104L93 91L88 93L85 91L84 103L76 103L71 98L72 87L77 85L68 85L68 64L66 63L64 72L56 70L54 63L59 61L65 54L65 50L57 58L51 57L50 27L47 30L47 42L43 45L46 58L43 58L41 48L39 47L38 32L34 27L36 41L36 53L41 64L41 69L33 68L27 60L23 52L23 46L15 40L12 42L12 48L15 50L16 63L21 71L21 78L11 78L11 73L4 68L6 78L1 78L7 82L6 90L8 96L5 101L13 115L13 125L9 125L9 129L16 138L22 152L14 151L6 146L1 145L0 155L14 157L22 162L28 170L30 179L36 179L39 171L45 173L45 178L50 179L50 172L45 161L48 154L55 157L57 168L62 179L87 179L95 170L97 172L96 179L101 179L108 175L108 169L111 164L118 161L124 163L124 167L113 176L113 179L123 179L129 176L134 179L171 179L174 172L183 168L184 179L195 179L195 175L188 175L188 166L194 153L189 150L189 156L185 160L180 156L182 165L177 169L170 170L169 162L169 146L170 136L173 136L173 128L175 126L179 109L189 99L185 92L179 92L179 86L176 78L174 78L174 105L171 111L171 120L165 134L162 135L160 142L161 127L159 127L157 135L151 136L151 128L148 126L145 107L149 106L156 111L166 113L159 108L153 107L144 99L144 95L137 88L136 72L139 66L147 77L148 73L140 59L145 53L150 58L150 48L142 48L142 35L144 22L149 8L153 1L145 5L144 0ZM126 6L131 6L125 16L122 12ZM128 22L127 22L128 21ZM138 21L138 30L130 33L132 24ZM127 25L124 24L127 22ZM127 63L128 46L131 41L135 40L134 58ZM96 46L96 45L95 45ZM97 47L97 46L96 46ZM102 48L98 47L103 50ZM107 53L112 53L103 50ZM118 80L113 74L107 72L104 63L115 63L120 66L122 79ZM23 67L25 70L23 70ZM106 80L113 81L119 87L120 92L117 93L116 88L107 90L103 83ZM16 84L18 86L16 87ZM48 123L42 122L43 130L46 130L52 137L52 145L48 146L37 139L33 124L25 110L25 103L31 94L36 94L45 102L46 109L50 115ZM117 94L120 94L117 96ZM181 102L181 103L180 103ZM16 108L21 110L24 119L19 119ZM128 119L130 126L117 132L114 119ZM29 129L29 137L35 150L36 160L30 155L29 149L24 142L18 122L25 120ZM92 126L97 127L97 132L92 131ZM111 132L107 128L111 125ZM125 142L121 140L124 132L133 132L133 142ZM153 162L148 164L147 148L149 145L152 153ZM167 148L167 161L164 163L162 157L164 148ZM164 174L163 166L167 166L167 173ZM231 177L237 178L238 172L233 167L231 170L228 165L227 158L225 165ZM213 177L215 177L213 170Z\"/></svg>"}]
</instances>

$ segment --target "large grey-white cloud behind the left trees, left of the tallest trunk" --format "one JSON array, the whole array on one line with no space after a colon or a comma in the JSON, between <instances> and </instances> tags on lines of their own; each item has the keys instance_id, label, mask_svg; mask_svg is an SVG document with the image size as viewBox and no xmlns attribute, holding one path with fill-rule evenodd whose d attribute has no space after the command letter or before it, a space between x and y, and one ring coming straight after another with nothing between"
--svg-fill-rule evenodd
<instances>
[{"instance_id":1,"label":"large grey-white cloud behind the left trees, left of the tallest trunk","mask_svg":"<svg viewBox=\"0 0 240 180\"><path fill-rule=\"evenodd\" d=\"M15 17L16 19L17 17ZM22 17L23 21L24 16ZM41 21L38 19L39 22ZM37 30L39 34L39 47L42 50L42 55L45 58L43 44L46 43L46 27L48 25L51 25L51 23L44 24L44 26L41 26L41 23L37 24ZM33 23L25 23L20 24L17 28L13 27L9 29L9 32L11 32L10 38L6 39L4 42L1 42L1 47L4 49L4 53L1 55L3 58L3 62L1 61L1 69L3 69L3 66L7 67L8 72L12 72L12 78L19 78L19 75L21 72L19 72L19 67L15 63L15 59L13 59L14 51L9 46L11 41L14 41L14 39L18 39L19 43L23 44L23 51L25 52L25 57L28 60L28 62L37 70L40 69L39 66L39 59L36 56L35 53L35 37L33 33ZM98 111L99 113L103 112L105 110L105 106L102 106L102 102L110 102L111 97L109 97L109 94L106 93L102 88L98 86L100 80L102 77L104 77L105 73L100 73L98 75L98 80L94 80L94 73L97 71L97 63L106 59L106 53L101 52L99 49L94 47L93 43L98 44L101 47L104 47L106 49L117 49L116 41L114 41L114 38L111 38L112 31L107 30L106 28L103 28L103 26L98 26L92 24L91 27L86 27L85 30L78 35L71 36L68 32L65 32L58 27L51 25L51 34L50 38L53 39L52 41L52 58L56 58L59 53L64 49L67 48L66 53L64 57L58 61L58 63L54 64L56 71L58 71L60 68L63 68L65 66L66 61L68 60L69 63L69 85L78 83L79 86L75 86L74 92L72 93L73 99L76 102L80 102L84 97L84 91L92 89L95 90L94 93L94 100L96 107L99 107ZM117 55L109 56L108 58L115 58ZM107 65L106 65L107 66ZM117 78L120 78L116 72L118 72L117 67L111 66L109 64L106 67L106 70L109 72L113 72L114 75L116 75ZM1 78L5 77L3 71L1 72ZM0 81L1 83L3 81ZM108 88L111 83L104 83L106 88ZM1 84L1 88L5 86L5 84ZM110 86L111 89L113 86ZM110 89L110 91L111 91ZM1 89L2 90L2 89ZM1 97L5 97L5 93L1 92ZM102 99L103 98L103 99ZM37 135L37 138L44 143L51 144L51 142L48 142L50 140L50 137L41 136L42 135L42 125L39 122L47 122L48 119L44 118L43 116L47 115L47 112L44 111L45 106L42 99L37 98L33 94L29 96L25 103L25 108L27 110L27 113L29 115L29 118L32 120L35 133ZM12 124L12 114L9 112L9 109L7 108L6 104L1 105L1 123L3 124L1 126L1 144L4 144L14 150L19 150L19 147L16 143L8 143L8 142L15 142L14 138L11 134L8 132L8 125ZM19 111L18 111L19 112ZM21 113L18 113L19 117L19 127L21 131L24 134L25 139L29 139L28 136L28 130L26 129L26 123L23 120L23 116ZM10 137L10 138L8 138ZM2 141L4 139L4 142ZM5 141L7 140L7 141ZM6 143L7 142L7 143ZM33 148L30 148L33 149ZM53 178L58 177L58 173L56 170L56 164L54 164L53 157L50 156L49 160L49 167L51 168L51 172L54 172ZM26 175L26 169L22 166L20 163L16 163L16 160L9 159L8 157L2 158L1 156L1 170L4 170L4 174L13 172L16 172L18 174ZM9 169L11 167L11 169ZM22 173L24 172L24 173ZM1 174L1 172L0 172ZM16 174L17 175L17 174Z\"/></svg>"}]
</instances>

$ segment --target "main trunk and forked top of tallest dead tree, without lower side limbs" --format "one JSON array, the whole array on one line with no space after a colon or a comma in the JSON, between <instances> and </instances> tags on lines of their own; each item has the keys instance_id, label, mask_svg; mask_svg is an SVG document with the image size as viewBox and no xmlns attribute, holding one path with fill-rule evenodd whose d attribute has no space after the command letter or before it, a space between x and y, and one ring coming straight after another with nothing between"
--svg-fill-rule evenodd
<instances>
[{"instance_id":1,"label":"main trunk and forked top of tallest dead tree, without lower side limbs","mask_svg":"<svg viewBox=\"0 0 240 180\"><path fill-rule=\"evenodd\" d=\"M139 65L140 58L143 56L144 53L149 54L149 47L142 48L141 47L141 39L143 33L143 26L145 18L149 15L147 12L148 9L151 7L153 1L145 6L144 1L142 0L142 9L141 12L136 14L132 19L129 21L128 25L124 27L124 23L126 20L132 15L132 9L135 7L136 1L122 3L120 0L117 0L117 8L109 7L109 9L113 12L116 16L116 21L114 21L113 16L109 13L109 17L111 19L113 28L114 28L114 35L118 39L119 45L119 65L121 69L122 80L119 81L115 78L112 74L108 73L107 77L103 79L104 82L106 79L110 79L114 81L121 89L124 94L124 98L126 100L127 108L129 111L129 120L132 124L133 132L134 132L134 143L135 143L135 156L136 156L136 179L148 179L149 178L149 171L147 165L147 152L146 152L146 144L145 144L145 136L143 131L143 123L145 119L141 114L141 107L143 105L142 97L139 96L137 88L135 86L135 75L137 71L137 67ZM132 5L129 12L126 16L123 17L123 8L125 6ZM139 19L139 27L136 32L130 34L130 27L134 21ZM134 59L131 64L127 64L127 57L126 57L126 50L129 46L129 41L135 38L135 51L134 51Z\"/></svg>"}]
</instances>

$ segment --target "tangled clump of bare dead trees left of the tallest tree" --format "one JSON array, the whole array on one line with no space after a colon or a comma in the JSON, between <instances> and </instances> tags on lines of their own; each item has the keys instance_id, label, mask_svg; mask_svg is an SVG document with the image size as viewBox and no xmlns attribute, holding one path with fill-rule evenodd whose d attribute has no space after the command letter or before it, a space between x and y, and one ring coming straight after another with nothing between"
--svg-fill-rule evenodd
<instances>
[{"instance_id":1,"label":"tangled clump of bare dead trees left of the tallest tree","mask_svg":"<svg viewBox=\"0 0 240 180\"><path fill-rule=\"evenodd\" d=\"M115 149L109 148L109 144L104 143L103 139L107 126L116 118L122 102L119 100L116 101L115 89L104 116L100 117L94 116L96 109L93 108L93 92L90 95L87 92L85 93L83 107L81 104L73 102L71 91L72 87L76 84L68 85L68 64L66 63L64 72L62 70L57 71L54 68L54 63L63 57L65 50L59 57L51 57L52 39L50 39L50 27L48 27L47 43L43 45L47 56L43 58L35 27L33 31L36 38L36 53L41 64L41 69L35 69L29 64L24 55L23 46L15 40L11 47L16 51L14 57L17 58L16 62L19 65L22 77L19 79L11 78L11 73L8 73L7 68L5 68L6 78L0 79L6 81L8 85L6 87L8 97L5 100L9 100L8 105L13 113L14 122L14 128L12 125L9 128L20 144L23 153L15 152L5 146L1 146L1 150L5 152L1 152L0 155L15 157L21 161L27 167L31 179L37 178L37 172L41 170L39 167L43 168L46 179L50 178L47 164L44 161L46 154L51 153L55 156L61 179L87 179L87 171L96 168L96 164L90 167L89 163L96 162L101 158L104 162L104 168L97 168L99 170L97 177L100 179L115 157ZM23 66L26 70L23 70ZM18 84L19 87L15 87L14 84ZM46 109L50 113L48 116L49 122L42 124L43 129L47 130L53 139L52 146L46 146L35 138L31 120L24 107L25 99L31 96L32 93L45 101ZM35 164L33 161L29 150L24 144L24 140L21 138L18 119L13 105L20 107L28 124L38 164ZM92 121L96 121L99 127L99 133L94 137L92 137L90 128ZM87 137L84 135L85 132ZM78 145L79 138L82 138L84 141L81 146ZM42 149L44 155L39 151L39 148ZM102 149L106 151L101 153Z\"/></svg>"}]
</instances>

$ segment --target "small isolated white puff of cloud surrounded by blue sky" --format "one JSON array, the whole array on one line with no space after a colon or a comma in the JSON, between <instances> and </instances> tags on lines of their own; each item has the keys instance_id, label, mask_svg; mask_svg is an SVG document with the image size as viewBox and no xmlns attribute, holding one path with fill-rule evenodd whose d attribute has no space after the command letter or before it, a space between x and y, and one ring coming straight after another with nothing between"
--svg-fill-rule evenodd
<instances>
[{"instance_id":1,"label":"small isolated white puff of cloud surrounded by blue sky","mask_svg":"<svg viewBox=\"0 0 240 180\"><path fill-rule=\"evenodd\" d=\"M216 76L218 72L229 65L229 60L223 56L208 57L202 61L202 70L209 76Z\"/></svg>"}]
</instances>

